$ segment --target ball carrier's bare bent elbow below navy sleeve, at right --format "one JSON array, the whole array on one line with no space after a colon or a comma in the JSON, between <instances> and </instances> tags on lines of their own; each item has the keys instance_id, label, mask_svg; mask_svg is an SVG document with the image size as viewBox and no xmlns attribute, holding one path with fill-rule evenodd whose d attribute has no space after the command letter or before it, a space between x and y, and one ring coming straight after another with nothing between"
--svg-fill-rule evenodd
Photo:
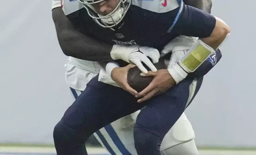
<instances>
[{"instance_id":1,"label":"ball carrier's bare bent elbow below navy sleeve, at right","mask_svg":"<svg viewBox=\"0 0 256 155\"><path fill-rule=\"evenodd\" d=\"M213 29L211 36L209 36L208 38L203 38L202 41L204 41L206 44L210 45L213 49L216 50L228 37L231 30L223 20L219 19L218 17L215 17L215 19L215 28Z\"/></svg>"}]
</instances>

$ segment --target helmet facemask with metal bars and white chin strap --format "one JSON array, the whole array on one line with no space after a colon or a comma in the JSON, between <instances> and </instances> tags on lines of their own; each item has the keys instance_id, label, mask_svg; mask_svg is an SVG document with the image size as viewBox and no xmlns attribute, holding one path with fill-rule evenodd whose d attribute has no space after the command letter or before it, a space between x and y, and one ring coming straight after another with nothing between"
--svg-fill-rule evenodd
<instances>
[{"instance_id":1,"label":"helmet facemask with metal bars and white chin strap","mask_svg":"<svg viewBox=\"0 0 256 155\"><path fill-rule=\"evenodd\" d=\"M105 0L78 0L83 4L87 13L93 20L104 28L111 28L118 25L122 19L124 18L125 14L127 13L128 9L131 5L131 0L119 0L118 5L116 8L108 13L107 15L101 15L97 13L97 11L93 8L93 4L101 3Z\"/></svg>"}]
</instances>

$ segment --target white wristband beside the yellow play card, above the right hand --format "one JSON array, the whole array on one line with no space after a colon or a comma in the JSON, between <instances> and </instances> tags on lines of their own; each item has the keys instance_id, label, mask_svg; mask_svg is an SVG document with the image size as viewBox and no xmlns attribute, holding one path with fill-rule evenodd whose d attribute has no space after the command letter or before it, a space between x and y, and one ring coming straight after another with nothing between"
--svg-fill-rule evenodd
<instances>
[{"instance_id":1,"label":"white wristband beside the yellow play card, above the right hand","mask_svg":"<svg viewBox=\"0 0 256 155\"><path fill-rule=\"evenodd\" d=\"M169 68L167 68L170 75L175 80L176 84L178 84L180 81L185 79L188 76L188 73L186 73L179 65L178 63L173 64Z\"/></svg>"}]
</instances>

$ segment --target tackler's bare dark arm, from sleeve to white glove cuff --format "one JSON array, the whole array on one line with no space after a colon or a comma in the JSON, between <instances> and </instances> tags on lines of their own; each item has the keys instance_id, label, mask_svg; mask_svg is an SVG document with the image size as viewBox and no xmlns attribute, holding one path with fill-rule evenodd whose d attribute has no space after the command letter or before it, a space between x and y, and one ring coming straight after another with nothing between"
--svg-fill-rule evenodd
<instances>
[{"instance_id":1,"label":"tackler's bare dark arm, from sleeve to white glove cuff","mask_svg":"<svg viewBox=\"0 0 256 155\"><path fill-rule=\"evenodd\" d=\"M61 7L52 9L58 41L67 56L89 61L111 61L113 45L84 35L68 20Z\"/></svg>"}]
</instances>

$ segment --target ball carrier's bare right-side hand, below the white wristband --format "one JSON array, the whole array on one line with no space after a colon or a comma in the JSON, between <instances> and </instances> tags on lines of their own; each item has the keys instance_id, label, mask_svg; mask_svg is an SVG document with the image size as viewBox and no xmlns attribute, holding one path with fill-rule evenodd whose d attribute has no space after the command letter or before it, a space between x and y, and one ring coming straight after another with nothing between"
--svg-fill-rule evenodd
<instances>
[{"instance_id":1,"label":"ball carrier's bare right-side hand, below the white wristband","mask_svg":"<svg viewBox=\"0 0 256 155\"><path fill-rule=\"evenodd\" d=\"M149 71L148 74L141 74L141 76L154 76L154 79L143 91L136 94L137 98L142 97L138 100L139 103L148 100L155 95L164 93L176 84L167 69L158 70L155 73Z\"/></svg>"}]
</instances>

